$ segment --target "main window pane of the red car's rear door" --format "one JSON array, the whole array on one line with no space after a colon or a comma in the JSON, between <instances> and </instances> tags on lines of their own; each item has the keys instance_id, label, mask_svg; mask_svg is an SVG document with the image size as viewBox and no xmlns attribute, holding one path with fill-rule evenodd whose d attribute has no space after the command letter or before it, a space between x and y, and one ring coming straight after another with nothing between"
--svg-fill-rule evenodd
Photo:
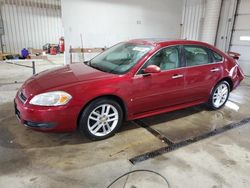
<instances>
[{"instance_id":1,"label":"main window pane of the red car's rear door","mask_svg":"<svg viewBox=\"0 0 250 188\"><path fill-rule=\"evenodd\" d=\"M211 63L209 52L199 46L184 46L187 66L205 65Z\"/></svg>"}]
</instances>

